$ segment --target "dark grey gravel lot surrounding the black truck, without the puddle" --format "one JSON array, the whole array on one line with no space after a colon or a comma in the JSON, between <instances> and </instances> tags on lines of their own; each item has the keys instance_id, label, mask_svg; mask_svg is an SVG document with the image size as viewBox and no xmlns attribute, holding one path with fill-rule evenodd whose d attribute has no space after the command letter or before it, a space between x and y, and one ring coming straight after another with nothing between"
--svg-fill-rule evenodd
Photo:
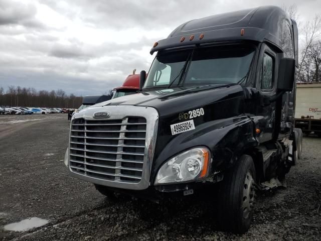
<instances>
[{"instance_id":1,"label":"dark grey gravel lot surrounding the black truck, without the puddle","mask_svg":"<svg viewBox=\"0 0 321 241\"><path fill-rule=\"evenodd\" d=\"M0 127L0 239L321 240L321 139L304 138L287 188L260 193L250 230L233 235L217 229L211 200L112 202L70 177L66 114L2 115ZM29 217L49 222L28 231L4 228Z\"/></svg>"}]
</instances>

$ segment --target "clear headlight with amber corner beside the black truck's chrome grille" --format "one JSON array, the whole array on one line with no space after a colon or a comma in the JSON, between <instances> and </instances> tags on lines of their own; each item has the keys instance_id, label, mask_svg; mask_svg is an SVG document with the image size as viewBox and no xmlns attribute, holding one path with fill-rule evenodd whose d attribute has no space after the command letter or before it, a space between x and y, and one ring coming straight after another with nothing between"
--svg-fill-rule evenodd
<instances>
[{"instance_id":1,"label":"clear headlight with amber corner beside the black truck's chrome grille","mask_svg":"<svg viewBox=\"0 0 321 241\"><path fill-rule=\"evenodd\" d=\"M159 169L155 185L186 182L207 176L210 163L210 150L206 147L193 148L167 161Z\"/></svg>"}]
</instances>

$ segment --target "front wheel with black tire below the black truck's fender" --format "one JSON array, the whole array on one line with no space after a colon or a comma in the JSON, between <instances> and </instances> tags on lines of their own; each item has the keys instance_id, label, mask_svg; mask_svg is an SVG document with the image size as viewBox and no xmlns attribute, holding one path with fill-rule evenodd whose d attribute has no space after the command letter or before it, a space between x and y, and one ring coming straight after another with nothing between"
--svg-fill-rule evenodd
<instances>
[{"instance_id":1,"label":"front wheel with black tire below the black truck's fender","mask_svg":"<svg viewBox=\"0 0 321 241\"><path fill-rule=\"evenodd\" d=\"M219 188L218 225L234 233L246 232L253 218L255 167L248 155L224 175Z\"/></svg>"}]
</instances>

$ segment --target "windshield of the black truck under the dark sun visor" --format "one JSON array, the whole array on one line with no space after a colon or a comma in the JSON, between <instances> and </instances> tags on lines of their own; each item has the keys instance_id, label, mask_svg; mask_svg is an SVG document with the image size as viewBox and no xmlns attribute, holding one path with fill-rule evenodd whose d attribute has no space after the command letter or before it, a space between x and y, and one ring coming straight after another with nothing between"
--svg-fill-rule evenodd
<instances>
[{"instance_id":1,"label":"windshield of the black truck under the dark sun visor","mask_svg":"<svg viewBox=\"0 0 321 241\"><path fill-rule=\"evenodd\" d=\"M254 49L207 47L157 55L144 88L236 84L246 81Z\"/></svg>"}]
</instances>

